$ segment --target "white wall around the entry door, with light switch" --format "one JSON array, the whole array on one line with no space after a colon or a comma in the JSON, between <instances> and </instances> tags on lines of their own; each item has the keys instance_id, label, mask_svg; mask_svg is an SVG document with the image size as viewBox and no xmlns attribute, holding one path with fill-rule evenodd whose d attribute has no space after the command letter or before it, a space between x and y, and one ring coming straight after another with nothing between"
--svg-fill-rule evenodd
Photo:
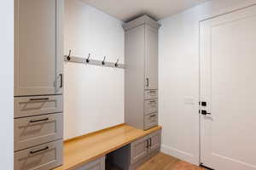
<instances>
[{"instance_id":1,"label":"white wall around the entry door, with light switch","mask_svg":"<svg viewBox=\"0 0 256 170\"><path fill-rule=\"evenodd\" d=\"M161 150L199 163L199 21L255 3L212 0L160 20Z\"/></svg>"}]
</instances>

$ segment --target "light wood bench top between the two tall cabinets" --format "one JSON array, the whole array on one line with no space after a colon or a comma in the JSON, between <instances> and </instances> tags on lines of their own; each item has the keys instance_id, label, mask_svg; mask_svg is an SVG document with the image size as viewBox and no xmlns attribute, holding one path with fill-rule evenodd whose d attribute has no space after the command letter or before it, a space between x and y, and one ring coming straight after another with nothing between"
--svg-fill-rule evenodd
<instances>
[{"instance_id":1,"label":"light wood bench top between the two tall cabinets","mask_svg":"<svg viewBox=\"0 0 256 170\"><path fill-rule=\"evenodd\" d=\"M56 167L54 170L70 170L80 167L160 128L160 126L157 126L143 131L126 124L121 124L96 133L89 133L75 139L69 139L64 142L63 146L63 165Z\"/></svg>"}]
</instances>

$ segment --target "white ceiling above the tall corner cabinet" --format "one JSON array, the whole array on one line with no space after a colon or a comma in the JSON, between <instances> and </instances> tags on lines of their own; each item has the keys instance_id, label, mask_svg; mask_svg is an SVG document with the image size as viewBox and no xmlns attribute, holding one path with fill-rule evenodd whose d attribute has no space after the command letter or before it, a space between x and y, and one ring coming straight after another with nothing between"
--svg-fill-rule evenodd
<instances>
[{"instance_id":1,"label":"white ceiling above the tall corner cabinet","mask_svg":"<svg viewBox=\"0 0 256 170\"><path fill-rule=\"evenodd\" d=\"M161 20L208 0L81 0L113 17L129 21L142 14Z\"/></svg>"}]
</instances>

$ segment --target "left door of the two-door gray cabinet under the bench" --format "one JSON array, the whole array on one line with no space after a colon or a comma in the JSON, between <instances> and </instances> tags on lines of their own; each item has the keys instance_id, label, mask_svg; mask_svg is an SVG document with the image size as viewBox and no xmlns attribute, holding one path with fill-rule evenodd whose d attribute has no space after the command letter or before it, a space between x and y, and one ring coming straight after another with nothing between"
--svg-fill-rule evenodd
<instances>
[{"instance_id":1,"label":"left door of the two-door gray cabinet under the bench","mask_svg":"<svg viewBox=\"0 0 256 170\"><path fill-rule=\"evenodd\" d=\"M148 155L148 137L131 143L131 165Z\"/></svg>"}]
</instances>

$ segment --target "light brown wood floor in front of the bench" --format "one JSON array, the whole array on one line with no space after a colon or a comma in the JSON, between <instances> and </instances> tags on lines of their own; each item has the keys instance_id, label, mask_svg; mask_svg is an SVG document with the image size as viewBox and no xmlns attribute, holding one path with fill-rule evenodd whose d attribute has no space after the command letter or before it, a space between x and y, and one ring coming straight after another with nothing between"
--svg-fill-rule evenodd
<instances>
[{"instance_id":1,"label":"light brown wood floor in front of the bench","mask_svg":"<svg viewBox=\"0 0 256 170\"><path fill-rule=\"evenodd\" d=\"M137 170L204 170L204 168L159 153L145 162L141 167L138 167Z\"/></svg>"}]
</instances>

